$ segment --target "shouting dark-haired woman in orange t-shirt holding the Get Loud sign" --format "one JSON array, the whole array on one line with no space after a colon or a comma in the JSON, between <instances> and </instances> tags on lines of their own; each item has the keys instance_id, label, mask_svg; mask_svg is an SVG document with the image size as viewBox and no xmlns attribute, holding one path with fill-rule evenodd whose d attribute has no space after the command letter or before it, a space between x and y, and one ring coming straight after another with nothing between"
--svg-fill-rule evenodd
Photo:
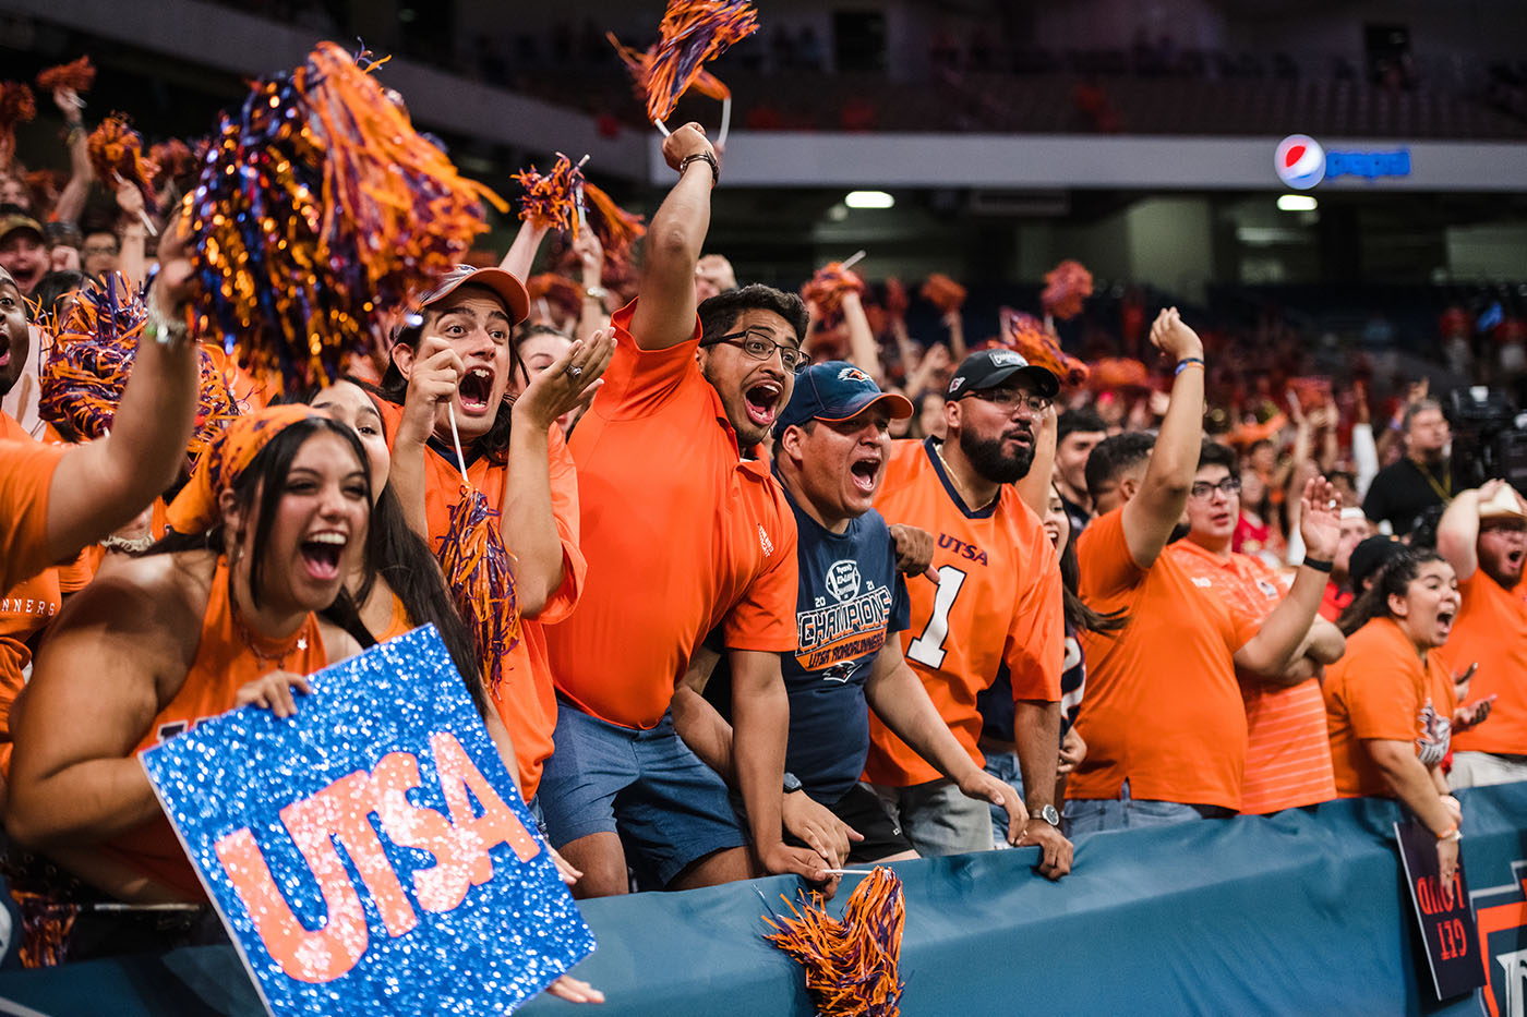
<instances>
[{"instance_id":1,"label":"shouting dark-haired woman in orange t-shirt holding the Get Loud sign","mask_svg":"<svg viewBox=\"0 0 1527 1017\"><path fill-rule=\"evenodd\" d=\"M1454 686L1431 651L1458 617L1452 565L1431 550L1394 557L1341 617L1347 654L1325 670L1336 794L1393 797L1437 834L1441 881L1458 870L1463 808L1448 791Z\"/></svg>"}]
</instances>

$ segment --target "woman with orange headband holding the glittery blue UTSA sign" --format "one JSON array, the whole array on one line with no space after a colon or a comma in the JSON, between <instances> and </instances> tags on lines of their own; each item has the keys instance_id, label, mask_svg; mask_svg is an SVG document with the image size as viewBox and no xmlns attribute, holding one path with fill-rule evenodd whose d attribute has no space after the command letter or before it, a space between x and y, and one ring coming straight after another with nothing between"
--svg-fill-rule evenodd
<instances>
[{"instance_id":1,"label":"woman with orange headband holding the glittery blue UTSA sign","mask_svg":"<svg viewBox=\"0 0 1527 1017\"><path fill-rule=\"evenodd\" d=\"M307 406L235 420L169 507L174 528L111 562L60 615L14 716L14 840L119 901L205 899L137 753L359 652L371 481L354 431ZM337 617L337 615L336 615Z\"/></svg>"}]
</instances>

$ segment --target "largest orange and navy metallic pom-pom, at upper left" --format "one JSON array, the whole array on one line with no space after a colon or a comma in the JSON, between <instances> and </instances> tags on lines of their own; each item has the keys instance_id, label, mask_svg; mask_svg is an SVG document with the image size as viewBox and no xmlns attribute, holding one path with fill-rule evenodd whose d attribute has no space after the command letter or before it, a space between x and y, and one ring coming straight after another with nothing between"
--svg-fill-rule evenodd
<instances>
[{"instance_id":1,"label":"largest orange and navy metallic pom-pom, at upper left","mask_svg":"<svg viewBox=\"0 0 1527 1017\"><path fill-rule=\"evenodd\" d=\"M328 383L345 354L380 353L385 315L429 290L487 229L446 154L322 43L223 118L194 194L203 328L281 388Z\"/></svg>"}]
</instances>

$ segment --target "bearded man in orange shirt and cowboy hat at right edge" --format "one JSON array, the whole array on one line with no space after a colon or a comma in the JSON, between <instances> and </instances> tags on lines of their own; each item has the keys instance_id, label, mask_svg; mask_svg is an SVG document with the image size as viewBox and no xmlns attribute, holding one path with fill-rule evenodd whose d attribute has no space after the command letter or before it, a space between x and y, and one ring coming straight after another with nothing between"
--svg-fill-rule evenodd
<instances>
[{"instance_id":1,"label":"bearded man in orange shirt and cowboy hat at right edge","mask_svg":"<svg viewBox=\"0 0 1527 1017\"><path fill-rule=\"evenodd\" d=\"M1527 502L1506 481L1460 493L1437 524L1437 550L1458 574L1463 606L1435 652L1471 683L1474 709L1455 716L1448 785L1527 780ZM1489 722L1480 722L1480 704ZM1463 721L1461 724L1458 721Z\"/></svg>"}]
</instances>

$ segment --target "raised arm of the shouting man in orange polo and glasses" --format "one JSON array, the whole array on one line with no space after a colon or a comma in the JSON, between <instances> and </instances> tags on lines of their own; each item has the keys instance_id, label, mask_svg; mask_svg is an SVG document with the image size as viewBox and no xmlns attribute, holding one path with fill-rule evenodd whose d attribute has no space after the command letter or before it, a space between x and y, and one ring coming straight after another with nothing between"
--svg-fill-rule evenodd
<instances>
[{"instance_id":1,"label":"raised arm of the shouting man in orange polo and glasses","mask_svg":"<svg viewBox=\"0 0 1527 1017\"><path fill-rule=\"evenodd\" d=\"M699 124L686 124L663 139L663 159L673 170L681 165L684 170L647 226L641 299L631 318L631 334L643 350L676 347L695 331L695 264L710 229L716 176L705 159L690 159L686 165L690 156L716 157Z\"/></svg>"}]
</instances>

